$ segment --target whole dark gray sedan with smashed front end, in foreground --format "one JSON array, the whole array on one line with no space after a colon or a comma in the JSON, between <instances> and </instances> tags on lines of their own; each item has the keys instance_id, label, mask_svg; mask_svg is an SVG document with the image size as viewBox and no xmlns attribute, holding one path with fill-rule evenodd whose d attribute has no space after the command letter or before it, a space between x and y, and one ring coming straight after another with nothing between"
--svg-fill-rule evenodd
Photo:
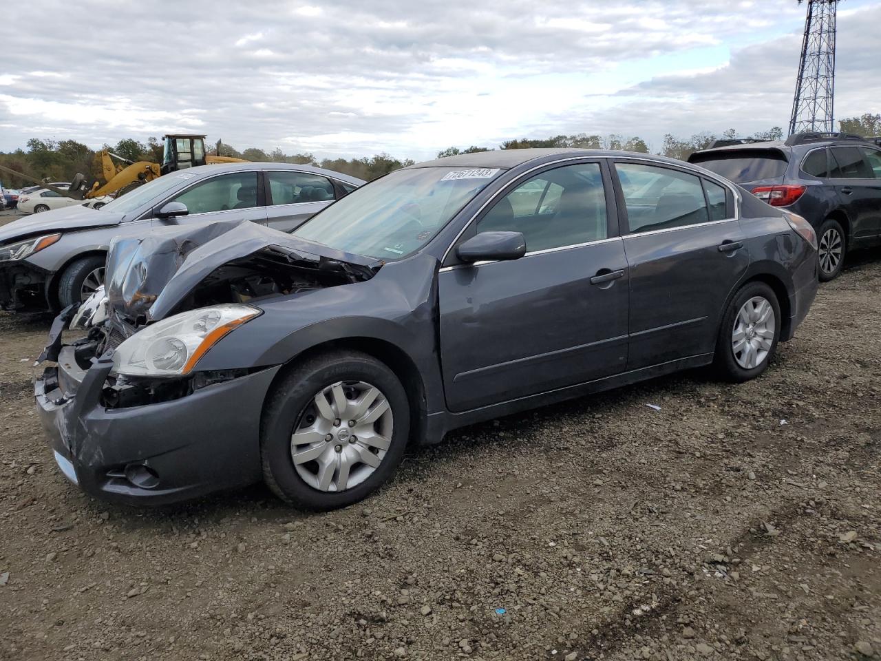
<instances>
[{"instance_id":1,"label":"whole dark gray sedan with smashed front end, in foreground","mask_svg":"<svg viewBox=\"0 0 881 661\"><path fill-rule=\"evenodd\" d=\"M455 427L685 368L760 375L811 306L816 240L661 157L434 160L293 234L116 241L89 339L63 343L72 308L53 326L38 411L63 473L100 497L263 479L343 507Z\"/></svg>"}]
</instances>

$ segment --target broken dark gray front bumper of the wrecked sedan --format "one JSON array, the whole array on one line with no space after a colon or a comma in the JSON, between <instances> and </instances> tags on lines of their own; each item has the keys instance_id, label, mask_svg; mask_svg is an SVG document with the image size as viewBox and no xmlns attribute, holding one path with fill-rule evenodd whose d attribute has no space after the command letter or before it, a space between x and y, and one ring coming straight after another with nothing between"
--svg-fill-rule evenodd
<instances>
[{"instance_id":1,"label":"broken dark gray front bumper of the wrecked sedan","mask_svg":"<svg viewBox=\"0 0 881 661\"><path fill-rule=\"evenodd\" d=\"M53 340L59 344L50 338L48 353ZM34 396L56 463L83 491L161 505L260 479L260 416L279 367L172 401L110 409L101 404L101 390L112 354L84 370L73 352L60 346L57 365L36 379Z\"/></svg>"}]
</instances>

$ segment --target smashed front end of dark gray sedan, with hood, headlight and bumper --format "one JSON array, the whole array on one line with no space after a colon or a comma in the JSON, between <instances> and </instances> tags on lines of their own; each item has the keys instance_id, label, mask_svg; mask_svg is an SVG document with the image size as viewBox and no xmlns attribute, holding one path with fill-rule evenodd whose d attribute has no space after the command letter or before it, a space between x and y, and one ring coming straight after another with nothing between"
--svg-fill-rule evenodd
<instances>
[{"instance_id":1,"label":"smashed front end of dark gray sedan, with hood, headlight and bumper","mask_svg":"<svg viewBox=\"0 0 881 661\"><path fill-rule=\"evenodd\" d=\"M87 492L156 503L259 479L260 414L280 366L198 360L261 301L380 265L247 221L115 241L105 295L63 310L39 359L50 364L37 408L62 471ZM65 343L70 326L85 337Z\"/></svg>"}]
</instances>

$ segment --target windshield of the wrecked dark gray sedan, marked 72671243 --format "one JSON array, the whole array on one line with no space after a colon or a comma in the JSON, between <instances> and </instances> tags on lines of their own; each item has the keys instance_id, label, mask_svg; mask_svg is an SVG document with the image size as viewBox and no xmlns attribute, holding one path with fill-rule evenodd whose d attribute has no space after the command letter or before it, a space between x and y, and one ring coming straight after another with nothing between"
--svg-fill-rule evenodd
<instances>
[{"instance_id":1,"label":"windshield of the wrecked dark gray sedan, marked 72671243","mask_svg":"<svg viewBox=\"0 0 881 661\"><path fill-rule=\"evenodd\" d=\"M501 172L498 167L418 167L353 190L293 234L329 248L395 260L431 241Z\"/></svg>"}]
</instances>

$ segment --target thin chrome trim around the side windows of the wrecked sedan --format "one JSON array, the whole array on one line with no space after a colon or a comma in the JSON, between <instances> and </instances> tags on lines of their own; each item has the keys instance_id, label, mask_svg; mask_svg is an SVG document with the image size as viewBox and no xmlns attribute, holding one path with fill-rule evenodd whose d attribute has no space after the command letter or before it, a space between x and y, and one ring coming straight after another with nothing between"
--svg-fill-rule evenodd
<instances>
[{"instance_id":1,"label":"thin chrome trim around the side windows of the wrecked sedan","mask_svg":"<svg viewBox=\"0 0 881 661\"><path fill-rule=\"evenodd\" d=\"M624 153L621 156L611 156L608 154L605 154L603 156L587 156L587 155L570 156L566 159L552 160L547 163L542 163L541 165L537 165L535 167L530 167L529 170L527 170L526 172L523 172L522 174L517 175L510 182L507 182L507 184L505 184L504 188L499 189L495 193L493 193L492 197L490 197L488 200L486 200L484 204L481 204L480 207L478 208L478 210L471 215L470 219L468 219L468 222L465 223L464 227L459 231L458 234L455 235L455 237L453 238L453 241L448 245L447 249L444 250L444 254L441 257L441 264L443 264L444 262L447 261L447 257L449 256L450 250L452 250L453 247L455 246L456 242L458 242L459 239L462 238L462 235L465 234L465 231L469 227L471 227L471 223L473 223L474 220L477 219L477 217L484 211L484 209L487 206L489 206L490 204L493 204L495 202L496 198L500 196L502 190L507 189L508 185L521 181L524 177L531 175L536 170L540 170L543 167L552 166L552 165L559 165L560 163L570 163L570 162L574 162L574 161L578 161L578 160L581 160L581 161L596 161L596 160L607 160L608 161L608 160L611 160L611 163L610 163L611 167L615 166L615 160L639 161L640 163L648 163L649 165L653 165L655 167L662 167L662 168L669 167L670 169L680 170L682 172L685 172L685 174L696 176L699 179L700 179L700 177L704 177L712 182L718 183L719 185L722 186L722 188L730 190L731 195L734 196L734 217L733 218L722 219L722 220L707 220L706 222L702 222L702 223L693 223L692 225L683 225L682 227L669 227L667 229L656 229L656 230L651 230L648 232L640 232L638 234L619 234L618 236L612 236L609 239L600 239L598 241L590 241L589 243L596 243L599 241L611 241L614 239L623 239L623 238L626 238L626 236L645 236L647 234L661 234L663 232L672 232L674 230L685 229L687 227L697 227L700 225L712 225L715 223L727 223L727 222L730 222L731 220L740 220L740 217L741 217L740 206L743 203L743 197L741 197L740 191L737 189L737 186L735 184L733 184L732 182L729 182L724 177L716 175L714 172L711 172L710 170L706 170L706 168L698 166L698 167L700 167L700 171L695 172L693 169L695 166L692 166L690 164L684 164L683 166L679 166L677 163L666 163L663 161L659 162L654 159L647 159L647 158L643 158L640 156L632 156L629 153ZM607 210L607 212L608 212L608 210ZM618 229L620 231L620 227ZM559 249L576 248L581 245L589 245L589 243L576 244L573 246L562 246ZM548 249L548 250L555 250L555 249ZM537 252L544 252L544 251L537 251ZM529 256L529 255L533 255L533 254L535 254L535 253L528 252L528 253L526 253L526 255L524 255L524 257ZM441 272L453 270L455 268L459 268L462 266L479 266L481 264L494 264L494 261L474 262L473 264L454 264L453 266L444 266L441 268Z\"/></svg>"}]
</instances>

